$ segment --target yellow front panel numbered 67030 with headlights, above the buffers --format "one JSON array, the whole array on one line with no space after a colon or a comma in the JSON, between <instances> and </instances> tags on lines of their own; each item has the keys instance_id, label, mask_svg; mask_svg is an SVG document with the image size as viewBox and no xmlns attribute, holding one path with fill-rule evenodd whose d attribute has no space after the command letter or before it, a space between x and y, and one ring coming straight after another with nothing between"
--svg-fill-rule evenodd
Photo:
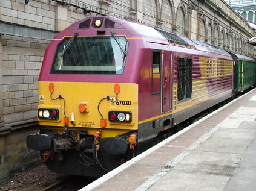
<instances>
[{"instance_id":1,"label":"yellow front panel numbered 67030 with headlights, above the buffers","mask_svg":"<svg viewBox=\"0 0 256 191\"><path fill-rule=\"evenodd\" d=\"M134 83L39 81L38 120L43 126L65 126L90 134L100 128L102 137L113 137L137 130L137 98ZM114 119L112 113L123 113L125 118Z\"/></svg>"}]
</instances>

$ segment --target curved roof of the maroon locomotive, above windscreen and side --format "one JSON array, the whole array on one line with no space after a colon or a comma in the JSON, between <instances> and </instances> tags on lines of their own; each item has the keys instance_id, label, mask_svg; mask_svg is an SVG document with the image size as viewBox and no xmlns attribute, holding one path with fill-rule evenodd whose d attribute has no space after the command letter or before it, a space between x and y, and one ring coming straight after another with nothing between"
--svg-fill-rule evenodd
<instances>
[{"instance_id":1,"label":"curved roof of the maroon locomotive, above windscreen and side","mask_svg":"<svg viewBox=\"0 0 256 191\"><path fill-rule=\"evenodd\" d=\"M114 29L120 29L120 30L125 30L126 34L130 34L130 36L133 37L144 37L146 39L155 39L155 40L160 40L162 42L165 42L166 45L182 45L182 46L187 46L188 48L194 48L199 51L205 51L205 52L212 52L216 54L222 54L222 55L228 55L228 52L226 52L222 48L218 48L213 45L209 45L208 43L203 43L198 40L194 39L189 39L187 37L179 36L174 33L170 33L168 31L158 29L158 28L153 28L149 27L147 25L144 25L142 23L135 22L134 20L123 20L123 19L118 19L116 17L112 16L93 16L93 17L88 17L87 19L80 20L76 23L73 23L70 25L70 27L67 28L67 30L84 30L87 28L90 28L90 23L87 22L87 20L90 19L97 19L97 18L105 18L105 27L102 25L103 30L111 30L111 22L115 23L112 27ZM106 27L106 22L108 20L108 27ZM100 28L102 28L100 27ZM93 27L95 28L95 27ZM99 28L99 29L100 29ZM100 29L101 30L101 29ZM64 30L66 31L66 30ZM65 34L66 32L62 33ZM90 31L88 31L88 35L90 35ZM58 34L57 34L58 36Z\"/></svg>"}]
</instances>

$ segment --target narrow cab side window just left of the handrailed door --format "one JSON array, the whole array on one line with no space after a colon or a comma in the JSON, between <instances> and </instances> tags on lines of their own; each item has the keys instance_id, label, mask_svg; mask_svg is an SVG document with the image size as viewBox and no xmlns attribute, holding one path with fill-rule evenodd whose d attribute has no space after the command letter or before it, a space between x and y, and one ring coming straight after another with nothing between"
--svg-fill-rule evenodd
<instances>
[{"instance_id":1,"label":"narrow cab side window just left of the handrailed door","mask_svg":"<svg viewBox=\"0 0 256 191\"><path fill-rule=\"evenodd\" d=\"M153 51L152 59L152 94L159 94L161 52Z\"/></svg>"}]
</instances>

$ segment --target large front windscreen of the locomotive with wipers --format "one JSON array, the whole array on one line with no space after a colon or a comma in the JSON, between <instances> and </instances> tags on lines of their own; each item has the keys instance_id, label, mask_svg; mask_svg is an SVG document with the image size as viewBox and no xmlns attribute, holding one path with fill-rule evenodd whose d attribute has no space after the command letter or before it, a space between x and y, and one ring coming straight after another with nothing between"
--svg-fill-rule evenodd
<instances>
[{"instance_id":1,"label":"large front windscreen of the locomotive with wipers","mask_svg":"<svg viewBox=\"0 0 256 191\"><path fill-rule=\"evenodd\" d=\"M128 41L123 36L65 37L51 74L123 74Z\"/></svg>"}]
</instances>

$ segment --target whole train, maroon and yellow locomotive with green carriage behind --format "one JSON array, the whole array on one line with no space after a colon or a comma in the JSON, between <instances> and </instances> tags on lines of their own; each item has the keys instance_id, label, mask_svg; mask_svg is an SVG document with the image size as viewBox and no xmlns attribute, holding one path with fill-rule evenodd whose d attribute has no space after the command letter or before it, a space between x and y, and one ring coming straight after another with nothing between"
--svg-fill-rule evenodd
<instances>
[{"instance_id":1,"label":"whole train, maroon and yellow locomotive with green carriage behind","mask_svg":"<svg viewBox=\"0 0 256 191\"><path fill-rule=\"evenodd\" d=\"M88 17L45 51L41 128L27 146L52 171L97 177L160 132L253 86L255 74L254 58L131 20Z\"/></svg>"}]
</instances>

